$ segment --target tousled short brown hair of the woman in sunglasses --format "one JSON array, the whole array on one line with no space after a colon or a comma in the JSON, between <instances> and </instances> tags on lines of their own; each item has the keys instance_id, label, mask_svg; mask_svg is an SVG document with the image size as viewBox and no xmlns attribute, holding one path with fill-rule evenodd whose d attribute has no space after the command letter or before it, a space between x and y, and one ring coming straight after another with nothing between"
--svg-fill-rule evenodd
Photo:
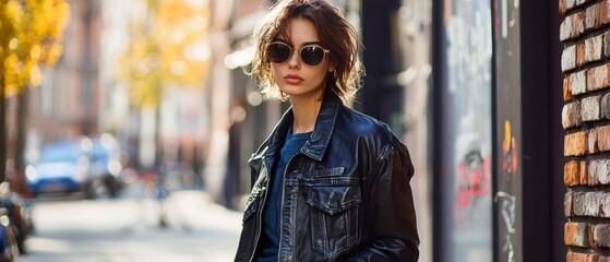
<instances>
[{"instance_id":1,"label":"tousled short brown hair of the woman in sunglasses","mask_svg":"<svg viewBox=\"0 0 610 262\"><path fill-rule=\"evenodd\" d=\"M328 0L279 0L256 24L253 35L256 55L247 73L258 80L263 97L286 99L273 79L267 47L286 34L285 28L296 17L311 21L322 46L331 50L327 59L335 66L335 71L328 73L333 84L326 86L344 100L352 99L363 74L358 53L358 32L344 17L340 9Z\"/></svg>"}]
</instances>

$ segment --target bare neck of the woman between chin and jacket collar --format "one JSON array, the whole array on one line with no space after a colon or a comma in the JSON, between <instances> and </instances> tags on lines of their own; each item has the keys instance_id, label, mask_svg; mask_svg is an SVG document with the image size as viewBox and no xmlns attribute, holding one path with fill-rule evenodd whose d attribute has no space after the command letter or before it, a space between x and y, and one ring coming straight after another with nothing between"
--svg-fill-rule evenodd
<instances>
[{"instance_id":1,"label":"bare neck of the woman between chin and jacket collar","mask_svg":"<svg viewBox=\"0 0 610 262\"><path fill-rule=\"evenodd\" d=\"M290 98L295 120L292 122L292 133L307 133L313 131L322 99L319 96L310 99Z\"/></svg>"}]
</instances>

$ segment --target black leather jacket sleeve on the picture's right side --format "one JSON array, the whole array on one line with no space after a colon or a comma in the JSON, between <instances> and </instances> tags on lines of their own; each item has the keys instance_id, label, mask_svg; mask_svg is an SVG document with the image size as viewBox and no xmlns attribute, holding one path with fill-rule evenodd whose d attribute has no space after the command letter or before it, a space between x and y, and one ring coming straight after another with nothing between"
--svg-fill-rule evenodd
<instances>
[{"instance_id":1,"label":"black leather jacket sleeve on the picture's right side","mask_svg":"<svg viewBox=\"0 0 610 262\"><path fill-rule=\"evenodd\" d=\"M354 257L356 261L417 261L419 237L409 180L414 166L405 145L386 145L371 174L369 211L371 241Z\"/></svg>"}]
</instances>

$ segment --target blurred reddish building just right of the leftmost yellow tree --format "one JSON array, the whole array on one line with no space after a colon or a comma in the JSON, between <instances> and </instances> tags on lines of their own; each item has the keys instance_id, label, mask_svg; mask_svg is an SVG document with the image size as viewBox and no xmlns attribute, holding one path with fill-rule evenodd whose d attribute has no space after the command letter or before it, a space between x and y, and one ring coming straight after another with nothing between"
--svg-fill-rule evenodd
<instances>
[{"instance_id":1,"label":"blurred reddish building just right of the leftmost yellow tree","mask_svg":"<svg viewBox=\"0 0 610 262\"><path fill-rule=\"evenodd\" d=\"M29 91L29 143L98 132L101 1L69 2L63 55L44 84Z\"/></svg>"}]
</instances>

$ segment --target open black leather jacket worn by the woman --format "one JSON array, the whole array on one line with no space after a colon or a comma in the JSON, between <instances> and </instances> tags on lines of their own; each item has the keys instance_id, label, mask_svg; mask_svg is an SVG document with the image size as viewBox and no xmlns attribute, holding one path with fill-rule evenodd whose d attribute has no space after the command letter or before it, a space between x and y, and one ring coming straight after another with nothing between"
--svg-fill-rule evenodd
<instances>
[{"instance_id":1,"label":"open black leather jacket worn by the woman","mask_svg":"<svg viewBox=\"0 0 610 262\"><path fill-rule=\"evenodd\" d=\"M262 236L270 170L292 122L289 109L252 155L252 191L235 261L253 261ZM388 127L322 103L315 129L286 165L279 261L417 261L419 238L407 147Z\"/></svg>"}]
</instances>

